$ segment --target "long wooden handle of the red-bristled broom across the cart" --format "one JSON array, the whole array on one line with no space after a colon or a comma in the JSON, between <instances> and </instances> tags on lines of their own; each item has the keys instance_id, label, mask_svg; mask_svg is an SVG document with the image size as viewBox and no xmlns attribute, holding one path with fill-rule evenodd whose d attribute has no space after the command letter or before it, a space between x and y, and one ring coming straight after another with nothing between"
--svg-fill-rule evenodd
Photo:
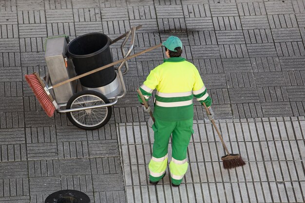
<instances>
[{"instance_id":1,"label":"long wooden handle of the red-bristled broom across the cart","mask_svg":"<svg viewBox=\"0 0 305 203\"><path fill-rule=\"evenodd\" d=\"M118 63L127 61L127 60L129 60L129 59L131 59L131 58L134 58L135 56L138 56L138 55L144 54L144 53L146 53L146 52L152 51L152 50L154 50L154 49L156 49L156 48L158 48L158 47L160 47L160 46L162 46L162 44L158 44L158 45L156 45L156 46L154 46L154 47L150 47L150 48L148 48L148 49L146 49L146 50L143 50L143 51L141 51L141 52L139 52L139 53L136 53L136 54L134 54L134 55L130 55L130 56L126 57L126 58L122 58L122 59L120 59L120 60L114 61L114 62L112 62L112 63L110 63L110 64L107 64L107 65L105 65L105 66L99 67L99 68L97 68L97 69L95 69L95 70L89 71L89 72L84 73L84 74L77 75L76 77L72 77L72 78L70 78L70 79L68 79L68 80L64 80L64 81L62 81L62 82L59 82L59 83L53 85L52 87L53 87L53 88L57 88L57 87L60 86L60 85L63 85L63 84L66 84L66 83L68 83L68 82L77 80L77 79L79 79L79 78L81 78L81 77L85 77L85 76L87 76L87 75L89 75L89 74L94 74L94 73L96 73L96 72L98 72L98 71L101 71L101 70L104 70L104 69L106 69L106 68L109 68L110 66L113 66L113 65L116 65L116 64L118 64Z\"/></svg>"}]
</instances>

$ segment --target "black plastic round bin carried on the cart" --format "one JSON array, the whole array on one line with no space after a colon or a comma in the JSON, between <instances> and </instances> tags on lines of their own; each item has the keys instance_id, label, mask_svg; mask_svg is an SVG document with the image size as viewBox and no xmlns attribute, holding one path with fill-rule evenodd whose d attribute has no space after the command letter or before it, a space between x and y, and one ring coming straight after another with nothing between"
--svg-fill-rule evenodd
<instances>
[{"instance_id":1,"label":"black plastic round bin carried on the cart","mask_svg":"<svg viewBox=\"0 0 305 203\"><path fill-rule=\"evenodd\" d=\"M89 33L76 37L67 48L77 75L87 73L113 62L110 51L110 38L102 33ZM80 78L82 86L98 88L108 85L115 79L114 66Z\"/></svg>"}]
</instances>

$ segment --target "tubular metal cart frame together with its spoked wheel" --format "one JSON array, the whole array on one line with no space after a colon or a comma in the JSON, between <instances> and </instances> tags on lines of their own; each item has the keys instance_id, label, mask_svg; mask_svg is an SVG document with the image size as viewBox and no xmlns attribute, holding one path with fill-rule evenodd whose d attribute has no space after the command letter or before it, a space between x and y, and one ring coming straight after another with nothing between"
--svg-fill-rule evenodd
<instances>
[{"instance_id":1,"label":"tubular metal cart frame together with its spoked wheel","mask_svg":"<svg viewBox=\"0 0 305 203\"><path fill-rule=\"evenodd\" d=\"M141 26L137 26L137 27L132 27L132 29L114 39L111 44L113 44L114 42L118 41L121 38L125 39L123 40L122 44L121 44L121 52L123 55L123 58L127 58L133 51L134 48L134 38L135 38L135 31L136 29L140 28ZM127 41L131 38L131 45L127 51L127 53L125 53L125 45L127 43ZM122 67L125 66L125 71L122 72ZM55 106L57 109L57 112L59 113L67 113L67 117L69 118L69 120L78 128L81 129L98 129L101 128L102 126L104 126L110 119L111 114L112 114L112 109L111 107L117 103L118 99L125 96L126 94L126 87L125 87L125 83L124 83L124 79L123 79L123 75L125 75L129 70L128 67L128 63L127 60L123 61L120 63L120 65L118 66L118 68L115 69L116 74L118 74L119 77L119 85L121 87L121 92L119 92L117 95L112 96L112 97L106 97L104 96L102 93L97 92L97 91L93 91L93 90L83 90L80 92L76 92L76 94L74 94L67 103L63 103L63 104L56 104L56 100L55 100ZM48 91L53 89L52 83L50 81L50 75L47 74L46 76L46 89ZM52 91L52 93L55 95L55 92ZM77 101L77 98L81 98L81 97L86 97L87 100L85 98L82 98L81 101ZM56 95L55 95L56 97ZM76 97L76 98L74 98ZM109 101L111 100L111 102ZM81 106L81 107L73 107L71 108L71 104L74 104L73 102L75 102L76 106ZM90 124L93 123L93 120L90 121L90 119L93 118L86 118L89 117L88 115L91 115L93 111L97 110L97 109L105 109L106 113L104 117L100 117L101 121L97 122L96 124ZM80 112L82 112L81 116L83 118L83 121L81 122L80 120L77 121L77 119L75 117L73 117L74 114L79 114ZM96 115L95 115L95 119L99 119ZM88 123L86 123L88 122Z\"/></svg>"}]
</instances>

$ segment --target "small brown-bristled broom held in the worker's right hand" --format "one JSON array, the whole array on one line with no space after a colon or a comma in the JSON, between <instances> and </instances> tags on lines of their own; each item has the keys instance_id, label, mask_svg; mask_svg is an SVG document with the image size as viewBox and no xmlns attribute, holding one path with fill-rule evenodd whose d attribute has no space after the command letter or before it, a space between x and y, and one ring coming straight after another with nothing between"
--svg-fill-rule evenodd
<instances>
[{"instance_id":1,"label":"small brown-bristled broom held in the worker's right hand","mask_svg":"<svg viewBox=\"0 0 305 203\"><path fill-rule=\"evenodd\" d=\"M210 115L210 111L209 111L209 109L208 109L208 107L206 106L205 103L203 103L203 106L205 107L205 109L207 111L207 114ZM229 150L228 150L228 148L227 148L227 146L226 146L226 144L225 144L225 142L224 142L217 126L216 126L216 124L215 124L214 119L212 119L211 122L212 122L214 128L216 129L217 134L218 134L218 136L221 140L221 143L222 143L222 145L224 146L224 148L227 152L227 155L221 157L224 168L225 169L231 169L231 168L236 168L236 167L239 167L239 166L246 165L246 163L244 162L244 160L242 159L242 157L239 154L230 154L230 152L229 152Z\"/></svg>"}]
</instances>

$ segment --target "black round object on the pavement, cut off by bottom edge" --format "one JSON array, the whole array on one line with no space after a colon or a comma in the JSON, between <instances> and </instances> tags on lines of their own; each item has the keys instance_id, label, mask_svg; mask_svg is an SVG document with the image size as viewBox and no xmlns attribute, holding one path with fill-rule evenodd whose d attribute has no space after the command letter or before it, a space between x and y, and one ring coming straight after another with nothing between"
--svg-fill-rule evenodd
<instances>
[{"instance_id":1,"label":"black round object on the pavement, cut off by bottom edge","mask_svg":"<svg viewBox=\"0 0 305 203\"><path fill-rule=\"evenodd\" d=\"M60 190L49 195L44 203L90 203L90 198L77 190Z\"/></svg>"}]
</instances>

